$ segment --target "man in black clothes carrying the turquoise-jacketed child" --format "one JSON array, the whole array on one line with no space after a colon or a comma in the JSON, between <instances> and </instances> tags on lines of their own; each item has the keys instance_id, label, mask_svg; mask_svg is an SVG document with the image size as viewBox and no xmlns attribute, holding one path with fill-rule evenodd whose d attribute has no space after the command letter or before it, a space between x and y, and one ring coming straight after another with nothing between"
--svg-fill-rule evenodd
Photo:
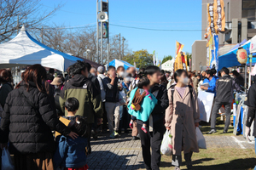
<instances>
[{"instance_id":1,"label":"man in black clothes carrying the turquoise-jacketed child","mask_svg":"<svg viewBox=\"0 0 256 170\"><path fill-rule=\"evenodd\" d=\"M137 120L137 130L140 134L141 144L143 149L143 161L146 169L160 169L160 145L165 133L165 112L169 105L167 89L160 85L160 68L155 65L150 65L145 70L145 75L148 77L150 93L158 100L154 106L154 110L149 116L148 126L144 133L142 130L143 122ZM151 148L151 150L150 150Z\"/></svg>"}]
</instances>

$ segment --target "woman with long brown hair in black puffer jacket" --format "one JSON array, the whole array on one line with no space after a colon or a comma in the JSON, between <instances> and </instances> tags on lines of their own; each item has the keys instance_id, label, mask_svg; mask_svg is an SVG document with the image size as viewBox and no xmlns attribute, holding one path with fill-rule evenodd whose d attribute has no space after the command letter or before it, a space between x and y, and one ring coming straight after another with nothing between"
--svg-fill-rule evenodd
<instances>
[{"instance_id":1,"label":"woman with long brown hair in black puffer jacket","mask_svg":"<svg viewBox=\"0 0 256 170\"><path fill-rule=\"evenodd\" d=\"M15 169L53 169L55 141L51 129L76 138L55 114L42 65L32 65L8 94L1 120L1 146L14 154Z\"/></svg>"}]
</instances>

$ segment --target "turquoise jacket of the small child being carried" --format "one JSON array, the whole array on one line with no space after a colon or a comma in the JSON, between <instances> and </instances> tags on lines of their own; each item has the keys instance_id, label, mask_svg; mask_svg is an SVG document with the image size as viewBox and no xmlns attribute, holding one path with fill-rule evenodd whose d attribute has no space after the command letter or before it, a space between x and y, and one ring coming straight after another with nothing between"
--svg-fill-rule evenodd
<instances>
[{"instance_id":1,"label":"turquoise jacket of the small child being carried","mask_svg":"<svg viewBox=\"0 0 256 170\"><path fill-rule=\"evenodd\" d=\"M157 99L154 97L153 94L149 93L143 99L143 103L141 104L141 110L135 111L135 110L131 109L131 102L132 102L132 99L134 98L136 91L137 91L137 88L135 88L131 91L131 99L127 106L128 112L130 115L136 116L138 120L147 122L150 114L154 110L154 106L157 104Z\"/></svg>"}]
</instances>

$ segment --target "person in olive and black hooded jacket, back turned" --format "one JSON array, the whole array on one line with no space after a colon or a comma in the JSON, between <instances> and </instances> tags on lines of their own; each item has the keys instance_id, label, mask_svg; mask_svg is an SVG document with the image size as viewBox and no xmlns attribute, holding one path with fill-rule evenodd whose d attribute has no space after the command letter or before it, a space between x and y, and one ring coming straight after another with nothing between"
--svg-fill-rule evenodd
<instances>
[{"instance_id":1,"label":"person in olive and black hooded jacket, back turned","mask_svg":"<svg viewBox=\"0 0 256 170\"><path fill-rule=\"evenodd\" d=\"M88 78L90 69L89 65L83 61L77 61L71 68L72 78L65 83L61 90L60 105L61 110L67 115L65 110L65 101L68 98L76 98L79 100L80 107L77 115L87 118L88 124L91 126L96 122L96 117L102 117L103 107L102 98L96 86ZM91 127L90 131L91 131ZM90 135L89 135L90 136ZM88 153L90 154L90 137L88 138Z\"/></svg>"}]
</instances>

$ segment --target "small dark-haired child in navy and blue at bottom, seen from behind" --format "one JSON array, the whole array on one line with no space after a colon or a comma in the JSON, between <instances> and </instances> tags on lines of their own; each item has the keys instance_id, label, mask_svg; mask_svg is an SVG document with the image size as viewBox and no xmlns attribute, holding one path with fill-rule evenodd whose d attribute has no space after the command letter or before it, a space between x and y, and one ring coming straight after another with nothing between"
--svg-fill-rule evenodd
<instances>
[{"instance_id":1,"label":"small dark-haired child in navy and blue at bottom, seen from behind","mask_svg":"<svg viewBox=\"0 0 256 170\"><path fill-rule=\"evenodd\" d=\"M58 145L54 156L54 167L61 170L87 170L85 148L89 132L84 117L75 116L79 109L79 100L75 98L67 99L65 109L68 114L60 118L61 122L68 124L68 127L79 136L72 139L59 135L56 138Z\"/></svg>"}]
</instances>

